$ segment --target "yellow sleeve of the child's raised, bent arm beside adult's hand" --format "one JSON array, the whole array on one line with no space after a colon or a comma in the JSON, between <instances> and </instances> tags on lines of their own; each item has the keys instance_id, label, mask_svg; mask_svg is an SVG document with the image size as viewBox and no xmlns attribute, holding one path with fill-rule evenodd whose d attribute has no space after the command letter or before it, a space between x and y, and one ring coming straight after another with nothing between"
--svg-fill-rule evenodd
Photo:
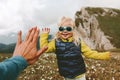
<instances>
[{"instance_id":1,"label":"yellow sleeve of the child's raised, bent arm beside adult's hand","mask_svg":"<svg viewBox=\"0 0 120 80\"><path fill-rule=\"evenodd\" d=\"M40 48L48 46L46 50L47 53L55 52L55 40L48 42L48 33L43 33L40 35Z\"/></svg>"}]
</instances>

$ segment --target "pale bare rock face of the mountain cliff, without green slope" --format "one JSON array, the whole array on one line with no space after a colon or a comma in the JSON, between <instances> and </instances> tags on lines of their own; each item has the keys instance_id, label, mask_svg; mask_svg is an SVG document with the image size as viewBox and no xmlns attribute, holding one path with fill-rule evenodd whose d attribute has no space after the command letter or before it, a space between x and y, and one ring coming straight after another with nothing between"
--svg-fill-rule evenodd
<instances>
[{"instance_id":1,"label":"pale bare rock face of the mountain cliff, without green slope","mask_svg":"<svg viewBox=\"0 0 120 80\"><path fill-rule=\"evenodd\" d=\"M101 16L106 15L108 12L112 16L117 15L115 12L105 9ZM85 8L76 13L75 21L77 22L79 35L91 49L100 51L114 49L115 47L110 43L108 36L100 29L96 16L97 14L89 14Z\"/></svg>"}]
</instances>

